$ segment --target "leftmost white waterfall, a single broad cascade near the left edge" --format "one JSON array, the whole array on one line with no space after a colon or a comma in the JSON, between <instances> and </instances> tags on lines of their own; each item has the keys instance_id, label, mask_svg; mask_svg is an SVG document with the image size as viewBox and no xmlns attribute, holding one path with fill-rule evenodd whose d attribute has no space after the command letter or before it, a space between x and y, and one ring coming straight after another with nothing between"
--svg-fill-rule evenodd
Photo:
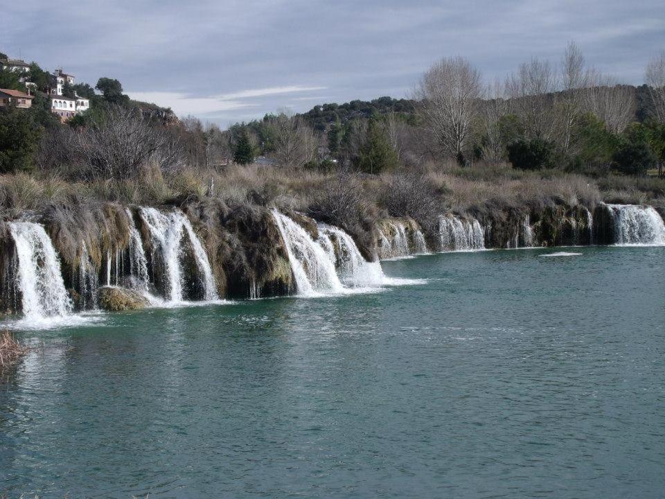
<instances>
[{"instance_id":1,"label":"leftmost white waterfall, a single broad cascade near the left edge","mask_svg":"<svg viewBox=\"0 0 665 499\"><path fill-rule=\"evenodd\" d=\"M44 227L10 222L18 256L18 280L27 319L71 314L72 304L60 274L60 260Z\"/></svg>"}]
</instances>

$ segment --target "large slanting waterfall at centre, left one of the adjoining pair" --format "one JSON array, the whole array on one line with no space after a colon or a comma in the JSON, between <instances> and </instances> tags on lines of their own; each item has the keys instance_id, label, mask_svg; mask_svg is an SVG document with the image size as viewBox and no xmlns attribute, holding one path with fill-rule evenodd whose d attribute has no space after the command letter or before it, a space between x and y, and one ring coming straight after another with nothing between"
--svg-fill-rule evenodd
<instances>
[{"instance_id":1,"label":"large slanting waterfall at centre, left one of the adjoining pair","mask_svg":"<svg viewBox=\"0 0 665 499\"><path fill-rule=\"evenodd\" d=\"M315 296L322 292L342 292L344 286L326 249L287 216L275 209L272 215L286 247L298 294Z\"/></svg>"}]
</instances>

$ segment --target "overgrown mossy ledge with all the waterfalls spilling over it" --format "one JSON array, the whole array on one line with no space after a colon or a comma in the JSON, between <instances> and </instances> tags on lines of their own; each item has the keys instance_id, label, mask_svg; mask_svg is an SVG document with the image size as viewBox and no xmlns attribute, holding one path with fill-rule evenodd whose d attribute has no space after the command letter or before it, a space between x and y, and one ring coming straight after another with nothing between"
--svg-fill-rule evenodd
<instances>
[{"instance_id":1,"label":"overgrown mossy ledge with all the waterfalls spilling over it","mask_svg":"<svg viewBox=\"0 0 665 499\"><path fill-rule=\"evenodd\" d=\"M378 262L412 254L665 245L656 209L606 204L582 177L541 179L538 189L532 180L513 181L492 198L503 205L486 193L478 195L484 209L465 210L450 205L451 196L470 193L459 177L457 184L446 177L450 191L438 192L432 174L304 175L292 191L285 178L275 180L282 190L271 200L248 190L244 202L212 192L160 207L72 202L1 222L1 309L39 322L98 308L325 295L380 287L386 277ZM322 182L317 189L314 179ZM109 286L112 300L102 297Z\"/></svg>"}]
</instances>

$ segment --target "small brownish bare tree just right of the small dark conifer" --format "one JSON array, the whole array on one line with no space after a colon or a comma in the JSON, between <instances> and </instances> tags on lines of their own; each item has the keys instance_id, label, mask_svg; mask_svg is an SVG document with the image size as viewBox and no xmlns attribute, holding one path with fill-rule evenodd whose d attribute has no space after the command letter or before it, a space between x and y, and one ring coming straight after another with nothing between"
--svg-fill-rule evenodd
<instances>
[{"instance_id":1,"label":"small brownish bare tree just right of the small dark conifer","mask_svg":"<svg viewBox=\"0 0 665 499\"><path fill-rule=\"evenodd\" d=\"M283 112L272 124L275 135L274 157L281 166L300 167L317 157L314 130L299 116Z\"/></svg>"}]
</instances>

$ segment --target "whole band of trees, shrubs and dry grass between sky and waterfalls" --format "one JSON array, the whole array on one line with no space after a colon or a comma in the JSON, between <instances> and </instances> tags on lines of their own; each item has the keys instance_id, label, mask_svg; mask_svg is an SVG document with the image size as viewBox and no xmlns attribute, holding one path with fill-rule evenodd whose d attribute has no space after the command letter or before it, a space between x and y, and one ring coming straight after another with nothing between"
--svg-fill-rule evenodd
<instances>
[{"instance_id":1,"label":"whole band of trees, shrubs and dry grass between sky and waterfalls","mask_svg":"<svg viewBox=\"0 0 665 499\"><path fill-rule=\"evenodd\" d=\"M490 87L467 60L446 58L414 100L323 105L224 131L143 112L100 78L97 91L78 86L92 108L65 124L39 98L0 110L0 217L213 199L310 213L357 235L381 217L426 227L445 211L601 201L663 211L665 179L646 175L664 163L663 61L637 90L610 85L572 44L557 67L531 60ZM257 155L268 159L254 164Z\"/></svg>"}]
</instances>

